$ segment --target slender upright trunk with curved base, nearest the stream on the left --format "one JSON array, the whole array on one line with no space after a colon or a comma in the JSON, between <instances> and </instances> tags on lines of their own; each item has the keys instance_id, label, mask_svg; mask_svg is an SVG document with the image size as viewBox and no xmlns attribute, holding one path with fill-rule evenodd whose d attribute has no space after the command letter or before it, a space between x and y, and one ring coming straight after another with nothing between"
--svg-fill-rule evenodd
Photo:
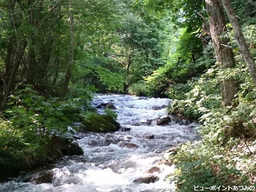
<instances>
[{"instance_id":1,"label":"slender upright trunk with curved base, nearest the stream on the left","mask_svg":"<svg viewBox=\"0 0 256 192\"><path fill-rule=\"evenodd\" d=\"M69 59L68 59L68 69L65 75L65 81L63 85L62 95L65 96L65 94L68 91L68 83L71 78L72 74L72 62L73 62L73 56L74 56L74 19L73 19L73 12L72 12L72 0L69 2L69 13L70 13L70 51L69 51Z\"/></svg>"}]
</instances>

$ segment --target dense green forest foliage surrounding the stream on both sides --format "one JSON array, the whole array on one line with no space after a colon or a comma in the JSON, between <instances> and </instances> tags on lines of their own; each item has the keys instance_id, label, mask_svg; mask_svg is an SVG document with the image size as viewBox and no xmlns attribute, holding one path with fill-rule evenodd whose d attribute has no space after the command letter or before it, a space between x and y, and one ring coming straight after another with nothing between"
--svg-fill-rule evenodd
<instances>
[{"instance_id":1,"label":"dense green forest foliage surrounding the stream on both sides","mask_svg":"<svg viewBox=\"0 0 256 192\"><path fill-rule=\"evenodd\" d=\"M255 61L255 1L231 3ZM204 0L0 0L1 173L44 164L53 135L95 115L93 93L111 92L168 97L169 114L201 123L202 139L170 157L180 191L254 184L256 88L226 14L218 38L235 67L216 62L206 10ZM223 106L230 79L238 91Z\"/></svg>"}]
</instances>

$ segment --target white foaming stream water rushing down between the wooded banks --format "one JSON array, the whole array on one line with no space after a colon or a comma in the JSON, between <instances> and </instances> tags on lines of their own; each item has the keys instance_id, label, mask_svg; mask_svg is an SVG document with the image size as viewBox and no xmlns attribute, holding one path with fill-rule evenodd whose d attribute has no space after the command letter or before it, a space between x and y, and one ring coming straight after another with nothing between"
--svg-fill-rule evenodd
<instances>
[{"instance_id":1,"label":"white foaming stream water rushing down between the wooded banks","mask_svg":"<svg viewBox=\"0 0 256 192\"><path fill-rule=\"evenodd\" d=\"M19 178L0 184L0 192L160 192L175 191L167 179L174 166L158 164L163 151L178 143L197 138L195 123L179 125L171 121L157 126L156 119L166 114L169 99L155 99L117 94L98 94L92 104L115 104L118 122L123 127L114 133L78 133L83 156L65 157L54 164L52 184L20 182ZM99 113L103 109L98 109ZM128 131L127 131L128 130ZM154 139L147 136L154 135ZM122 142L138 145L120 147ZM154 183L134 183L139 177L150 175L147 170L158 166L159 177Z\"/></svg>"}]
</instances>

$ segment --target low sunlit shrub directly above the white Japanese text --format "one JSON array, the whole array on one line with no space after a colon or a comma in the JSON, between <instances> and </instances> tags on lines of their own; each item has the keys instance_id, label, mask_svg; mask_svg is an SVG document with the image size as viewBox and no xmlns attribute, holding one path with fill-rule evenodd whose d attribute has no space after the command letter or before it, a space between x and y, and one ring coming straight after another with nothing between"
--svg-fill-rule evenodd
<instances>
[{"instance_id":1,"label":"low sunlit shrub directly above the white Japanese text","mask_svg":"<svg viewBox=\"0 0 256 192\"><path fill-rule=\"evenodd\" d=\"M175 156L170 156L170 160L176 164L174 179L179 191L193 191L194 186L250 185L246 172L241 169L245 165L253 169L253 165L241 163L238 167L240 170L236 169L234 163L244 157L231 151L230 157L226 157L229 149L230 145L209 145L202 141L182 145Z\"/></svg>"}]
</instances>

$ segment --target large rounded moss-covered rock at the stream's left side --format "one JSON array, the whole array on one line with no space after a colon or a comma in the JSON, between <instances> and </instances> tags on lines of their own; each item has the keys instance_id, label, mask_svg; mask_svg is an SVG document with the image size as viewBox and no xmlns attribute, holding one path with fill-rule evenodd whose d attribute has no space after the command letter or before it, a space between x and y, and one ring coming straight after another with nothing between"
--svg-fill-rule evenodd
<instances>
[{"instance_id":1,"label":"large rounded moss-covered rock at the stream's left side","mask_svg":"<svg viewBox=\"0 0 256 192\"><path fill-rule=\"evenodd\" d=\"M81 130L90 132L114 132L120 124L109 115L92 115L82 122Z\"/></svg>"}]
</instances>

